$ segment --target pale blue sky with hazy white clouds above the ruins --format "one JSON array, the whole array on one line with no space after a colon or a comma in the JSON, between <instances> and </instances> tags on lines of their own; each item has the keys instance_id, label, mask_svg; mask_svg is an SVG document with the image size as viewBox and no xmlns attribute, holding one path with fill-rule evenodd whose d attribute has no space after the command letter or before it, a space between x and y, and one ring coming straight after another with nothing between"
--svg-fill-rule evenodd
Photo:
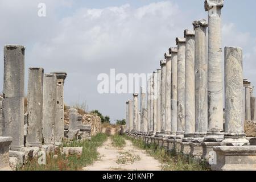
<instances>
[{"instance_id":1,"label":"pale blue sky with hazy white clouds above the ruins","mask_svg":"<svg viewBox=\"0 0 256 182\"><path fill-rule=\"evenodd\" d=\"M45 3L46 16L38 16ZM225 0L222 47L243 48L244 77L256 83L256 11L254 0ZM67 105L88 105L112 122L125 118L132 94L100 94L100 73L151 73L175 38L192 21L207 19L203 0L0 0L0 92L3 87L3 47L26 46L28 68L45 73L65 71ZM26 91L27 92L27 91ZM25 93L26 94L26 93Z\"/></svg>"}]
</instances>

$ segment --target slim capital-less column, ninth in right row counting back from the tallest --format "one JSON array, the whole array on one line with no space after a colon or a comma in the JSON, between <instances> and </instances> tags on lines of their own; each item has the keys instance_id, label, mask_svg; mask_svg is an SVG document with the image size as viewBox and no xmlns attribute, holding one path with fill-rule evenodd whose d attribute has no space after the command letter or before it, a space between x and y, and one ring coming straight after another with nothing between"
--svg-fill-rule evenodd
<instances>
[{"instance_id":1,"label":"slim capital-less column, ninth in right row counting back from the tallest","mask_svg":"<svg viewBox=\"0 0 256 182\"><path fill-rule=\"evenodd\" d=\"M156 123L158 114L158 72L154 72L154 100L153 100L153 133L156 134Z\"/></svg>"}]
</instances>

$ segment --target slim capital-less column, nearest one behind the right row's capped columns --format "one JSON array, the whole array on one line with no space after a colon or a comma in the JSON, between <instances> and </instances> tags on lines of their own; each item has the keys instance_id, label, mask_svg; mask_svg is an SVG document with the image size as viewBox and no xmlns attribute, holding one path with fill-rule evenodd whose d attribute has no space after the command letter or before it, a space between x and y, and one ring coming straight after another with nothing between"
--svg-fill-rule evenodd
<instances>
[{"instance_id":1,"label":"slim capital-less column, nearest one behind the right row's capped columns","mask_svg":"<svg viewBox=\"0 0 256 182\"><path fill-rule=\"evenodd\" d=\"M158 69L158 95L157 95L157 115L156 115L156 134L161 133L161 69Z\"/></svg>"}]
</instances>

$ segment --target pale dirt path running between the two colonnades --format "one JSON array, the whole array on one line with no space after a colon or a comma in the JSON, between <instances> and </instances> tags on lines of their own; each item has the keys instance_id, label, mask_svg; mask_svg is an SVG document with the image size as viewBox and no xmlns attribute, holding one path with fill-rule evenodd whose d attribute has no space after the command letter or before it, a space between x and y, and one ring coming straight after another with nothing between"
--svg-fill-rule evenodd
<instances>
[{"instance_id":1,"label":"pale dirt path running between the two colonnades","mask_svg":"<svg viewBox=\"0 0 256 182\"><path fill-rule=\"evenodd\" d=\"M83 168L84 171L160 171L161 164L146 151L139 150L133 146L130 140L126 140L126 146L117 148L112 145L109 138L97 151L100 160L92 166Z\"/></svg>"}]
</instances>

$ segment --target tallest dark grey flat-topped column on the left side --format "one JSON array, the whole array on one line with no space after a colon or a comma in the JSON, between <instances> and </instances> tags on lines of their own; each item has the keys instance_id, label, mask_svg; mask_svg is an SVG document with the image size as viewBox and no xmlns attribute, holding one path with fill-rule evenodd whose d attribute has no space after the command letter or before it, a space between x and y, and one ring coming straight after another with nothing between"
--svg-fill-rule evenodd
<instances>
[{"instance_id":1,"label":"tallest dark grey flat-topped column on the left side","mask_svg":"<svg viewBox=\"0 0 256 182\"><path fill-rule=\"evenodd\" d=\"M4 48L3 115L4 137L13 137L10 149L24 147L24 46Z\"/></svg>"}]
</instances>

